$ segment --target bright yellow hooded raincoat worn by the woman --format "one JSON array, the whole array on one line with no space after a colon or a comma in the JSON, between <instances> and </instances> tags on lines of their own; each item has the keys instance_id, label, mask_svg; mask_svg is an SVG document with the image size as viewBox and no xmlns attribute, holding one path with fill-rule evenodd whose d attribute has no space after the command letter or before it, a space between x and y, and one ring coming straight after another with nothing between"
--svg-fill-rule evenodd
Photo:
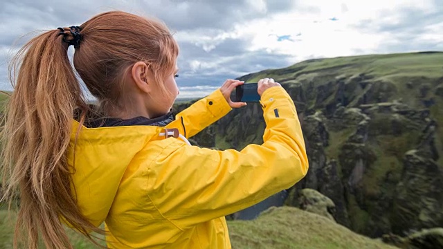
<instances>
[{"instance_id":1,"label":"bright yellow hooded raincoat worn by the woman","mask_svg":"<svg viewBox=\"0 0 443 249\"><path fill-rule=\"evenodd\" d=\"M262 95L263 145L217 151L165 138L165 127L82 127L73 186L82 214L105 221L109 248L230 248L224 216L287 189L307 174L296 108L282 87ZM167 128L186 138L230 111L217 90ZM73 123L71 148L78 122ZM75 158L75 164L73 162Z\"/></svg>"}]
</instances>

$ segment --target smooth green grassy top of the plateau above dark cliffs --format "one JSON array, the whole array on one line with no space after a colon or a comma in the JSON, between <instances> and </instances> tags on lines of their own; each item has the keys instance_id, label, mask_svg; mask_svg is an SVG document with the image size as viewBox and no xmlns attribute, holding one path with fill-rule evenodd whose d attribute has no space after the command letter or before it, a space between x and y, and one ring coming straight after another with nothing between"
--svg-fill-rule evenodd
<instances>
[{"instance_id":1,"label":"smooth green grassy top of the plateau above dark cliffs","mask_svg":"<svg viewBox=\"0 0 443 249\"><path fill-rule=\"evenodd\" d=\"M287 68L265 70L241 77L247 82L257 82L262 77L273 77L280 83L302 83L316 86L344 78L364 75L370 82L390 82L395 86L397 97L411 98L406 84L437 84L443 78L443 53L403 53L389 55L363 55L313 59ZM309 102L313 100L308 100ZM417 103L414 103L417 104Z\"/></svg>"}]
</instances>

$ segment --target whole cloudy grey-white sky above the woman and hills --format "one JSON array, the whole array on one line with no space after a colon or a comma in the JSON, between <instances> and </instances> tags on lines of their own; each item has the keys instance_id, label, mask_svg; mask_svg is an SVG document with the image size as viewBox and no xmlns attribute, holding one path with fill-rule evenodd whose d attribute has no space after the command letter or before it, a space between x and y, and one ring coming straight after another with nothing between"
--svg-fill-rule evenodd
<instances>
[{"instance_id":1,"label":"whole cloudy grey-white sky above the woman and hills","mask_svg":"<svg viewBox=\"0 0 443 249\"><path fill-rule=\"evenodd\" d=\"M165 21L181 47L181 97L224 80L305 59L443 50L443 0L1 0L0 89L35 30L78 26L125 10Z\"/></svg>"}]
</instances>

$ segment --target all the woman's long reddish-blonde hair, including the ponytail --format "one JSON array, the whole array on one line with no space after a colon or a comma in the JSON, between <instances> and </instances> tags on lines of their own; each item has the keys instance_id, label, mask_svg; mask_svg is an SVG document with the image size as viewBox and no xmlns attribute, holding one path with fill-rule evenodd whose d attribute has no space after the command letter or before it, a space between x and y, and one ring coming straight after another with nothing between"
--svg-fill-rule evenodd
<instances>
[{"instance_id":1,"label":"all the woman's long reddish-blonde hair, including the ponytail","mask_svg":"<svg viewBox=\"0 0 443 249\"><path fill-rule=\"evenodd\" d=\"M64 30L65 39L73 39L69 28ZM160 21L112 11L91 18L80 30L73 64L102 107L116 104L122 75L135 62L146 62L163 89L165 76L175 69L179 48ZM80 110L83 124L91 110L63 39L60 30L31 39L10 66L15 91L3 117L1 172L2 200L12 201L19 191L15 248L21 241L27 248L37 248L39 235L47 248L72 248L62 220L91 241L91 231L103 233L84 218L72 189L75 168L67 161L66 149L73 113Z\"/></svg>"}]
</instances>

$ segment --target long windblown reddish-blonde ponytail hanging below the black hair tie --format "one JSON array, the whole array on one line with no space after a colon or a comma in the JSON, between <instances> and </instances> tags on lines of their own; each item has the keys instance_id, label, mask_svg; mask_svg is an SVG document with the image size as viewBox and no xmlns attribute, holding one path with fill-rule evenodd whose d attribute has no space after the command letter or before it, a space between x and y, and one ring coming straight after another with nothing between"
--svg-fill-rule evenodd
<instances>
[{"instance_id":1,"label":"long windblown reddish-blonde ponytail hanging below the black hair tie","mask_svg":"<svg viewBox=\"0 0 443 249\"><path fill-rule=\"evenodd\" d=\"M2 200L11 203L17 190L20 196L14 248L20 241L37 248L39 234L46 248L72 248L62 220L91 241L89 232L103 233L82 216L71 184L66 149L73 112L84 114L87 102L69 63L66 34L51 30L31 39L10 66L15 91L3 116L0 167Z\"/></svg>"}]
</instances>

